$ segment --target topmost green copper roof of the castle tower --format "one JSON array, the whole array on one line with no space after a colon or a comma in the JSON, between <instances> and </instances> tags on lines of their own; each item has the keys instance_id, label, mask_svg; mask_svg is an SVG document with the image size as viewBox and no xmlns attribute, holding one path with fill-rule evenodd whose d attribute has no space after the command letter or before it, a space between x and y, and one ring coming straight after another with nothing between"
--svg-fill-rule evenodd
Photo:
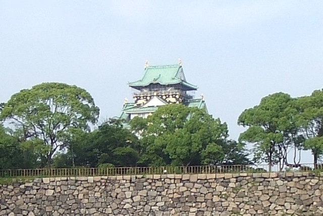
<instances>
[{"instance_id":1,"label":"topmost green copper roof of the castle tower","mask_svg":"<svg viewBox=\"0 0 323 216\"><path fill-rule=\"evenodd\" d=\"M161 85L183 84L190 90L196 90L197 86L186 82L184 71L180 65L149 66L145 69L140 80L130 82L130 87L147 86L151 83Z\"/></svg>"}]
</instances>

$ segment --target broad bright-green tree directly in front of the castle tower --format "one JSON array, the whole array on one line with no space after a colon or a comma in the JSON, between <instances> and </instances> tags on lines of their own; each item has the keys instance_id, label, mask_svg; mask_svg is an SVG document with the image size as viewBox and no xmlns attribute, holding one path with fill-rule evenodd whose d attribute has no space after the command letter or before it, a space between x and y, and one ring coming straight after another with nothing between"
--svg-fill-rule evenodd
<instances>
[{"instance_id":1,"label":"broad bright-green tree directly in front of the castle tower","mask_svg":"<svg viewBox=\"0 0 323 216\"><path fill-rule=\"evenodd\" d=\"M140 136L142 158L149 166L200 165L224 157L227 125L204 110L164 105L147 119L136 117L130 124Z\"/></svg>"}]
</instances>

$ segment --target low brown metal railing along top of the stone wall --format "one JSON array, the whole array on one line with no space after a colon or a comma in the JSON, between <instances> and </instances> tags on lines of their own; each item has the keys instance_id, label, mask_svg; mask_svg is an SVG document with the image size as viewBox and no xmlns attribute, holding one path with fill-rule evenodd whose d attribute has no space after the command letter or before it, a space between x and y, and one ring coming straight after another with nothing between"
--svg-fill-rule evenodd
<instances>
[{"instance_id":1,"label":"low brown metal railing along top of the stone wall","mask_svg":"<svg viewBox=\"0 0 323 216\"><path fill-rule=\"evenodd\" d=\"M212 174L212 173L266 173L266 172L308 172L322 170L323 165L302 164L284 170L279 165L224 165L188 167L117 167L117 168L61 168L0 170L0 178L7 177L73 177L73 176L120 176L157 174Z\"/></svg>"}]
</instances>

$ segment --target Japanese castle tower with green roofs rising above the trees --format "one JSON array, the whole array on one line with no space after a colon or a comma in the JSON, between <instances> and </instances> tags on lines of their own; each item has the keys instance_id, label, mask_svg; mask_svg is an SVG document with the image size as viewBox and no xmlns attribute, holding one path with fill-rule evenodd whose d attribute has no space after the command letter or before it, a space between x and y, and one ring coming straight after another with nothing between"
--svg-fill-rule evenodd
<instances>
[{"instance_id":1,"label":"Japanese castle tower with green roofs rising above the trees","mask_svg":"<svg viewBox=\"0 0 323 216\"><path fill-rule=\"evenodd\" d=\"M194 98L197 86L187 82L182 63L178 65L149 66L146 62L143 77L130 82L136 92L134 102L125 100L121 118L126 122L136 116L146 118L158 109L158 106L183 103L190 107L206 109L203 96Z\"/></svg>"}]
</instances>

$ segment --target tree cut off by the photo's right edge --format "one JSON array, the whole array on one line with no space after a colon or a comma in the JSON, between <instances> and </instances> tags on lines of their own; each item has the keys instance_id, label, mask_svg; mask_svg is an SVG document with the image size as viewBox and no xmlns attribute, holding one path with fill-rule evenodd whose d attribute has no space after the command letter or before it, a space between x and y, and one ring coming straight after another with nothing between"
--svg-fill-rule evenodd
<instances>
[{"instance_id":1,"label":"tree cut off by the photo's right edge","mask_svg":"<svg viewBox=\"0 0 323 216\"><path fill-rule=\"evenodd\" d=\"M310 96L297 99L300 114L297 116L298 124L305 142L305 150L311 150L313 163L323 154L323 90L315 90Z\"/></svg>"}]
</instances>

